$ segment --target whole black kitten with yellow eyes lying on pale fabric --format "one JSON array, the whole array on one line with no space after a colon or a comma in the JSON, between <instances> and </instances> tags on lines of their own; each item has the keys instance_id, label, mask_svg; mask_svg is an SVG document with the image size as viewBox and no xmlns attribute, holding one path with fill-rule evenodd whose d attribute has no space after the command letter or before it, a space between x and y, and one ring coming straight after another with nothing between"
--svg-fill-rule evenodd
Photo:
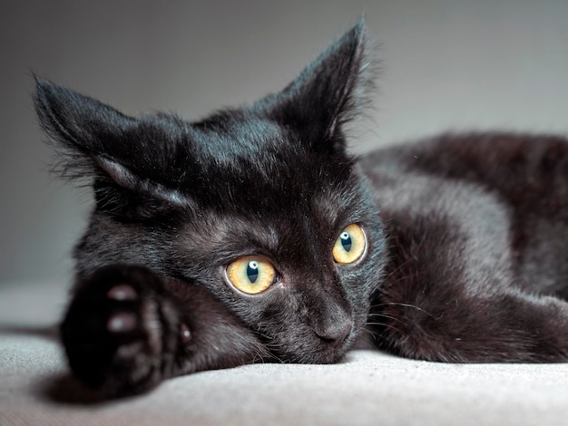
<instances>
[{"instance_id":1,"label":"whole black kitten with yellow eyes lying on pale fabric","mask_svg":"<svg viewBox=\"0 0 568 426\"><path fill-rule=\"evenodd\" d=\"M568 361L568 140L447 133L356 158L360 22L281 92L187 122L36 77L66 179L93 189L61 325L105 398L354 345L454 363Z\"/></svg>"}]
</instances>

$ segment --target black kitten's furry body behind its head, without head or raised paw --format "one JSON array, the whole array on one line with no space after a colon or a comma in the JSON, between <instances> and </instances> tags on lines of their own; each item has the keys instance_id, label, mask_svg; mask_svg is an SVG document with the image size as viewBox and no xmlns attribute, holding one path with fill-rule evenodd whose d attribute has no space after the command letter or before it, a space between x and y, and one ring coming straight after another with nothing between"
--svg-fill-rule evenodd
<instances>
[{"instance_id":1,"label":"black kitten's furry body behind its head, without head or raised paw","mask_svg":"<svg viewBox=\"0 0 568 426\"><path fill-rule=\"evenodd\" d=\"M568 288L567 140L447 134L361 166L389 241L370 318L379 346L449 362L567 360L568 304L556 298Z\"/></svg>"}]
</instances>

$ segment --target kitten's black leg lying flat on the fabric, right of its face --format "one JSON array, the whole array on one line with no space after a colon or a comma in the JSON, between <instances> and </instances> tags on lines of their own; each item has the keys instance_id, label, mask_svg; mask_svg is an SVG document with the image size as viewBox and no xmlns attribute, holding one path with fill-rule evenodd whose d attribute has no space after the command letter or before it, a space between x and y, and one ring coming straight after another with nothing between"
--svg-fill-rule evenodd
<instances>
[{"instance_id":1,"label":"kitten's black leg lying flat on the fabric, right of its face","mask_svg":"<svg viewBox=\"0 0 568 426\"><path fill-rule=\"evenodd\" d=\"M371 311L377 345L451 363L568 362L568 304L505 289L480 297L459 286L383 300Z\"/></svg>"}]
</instances>

